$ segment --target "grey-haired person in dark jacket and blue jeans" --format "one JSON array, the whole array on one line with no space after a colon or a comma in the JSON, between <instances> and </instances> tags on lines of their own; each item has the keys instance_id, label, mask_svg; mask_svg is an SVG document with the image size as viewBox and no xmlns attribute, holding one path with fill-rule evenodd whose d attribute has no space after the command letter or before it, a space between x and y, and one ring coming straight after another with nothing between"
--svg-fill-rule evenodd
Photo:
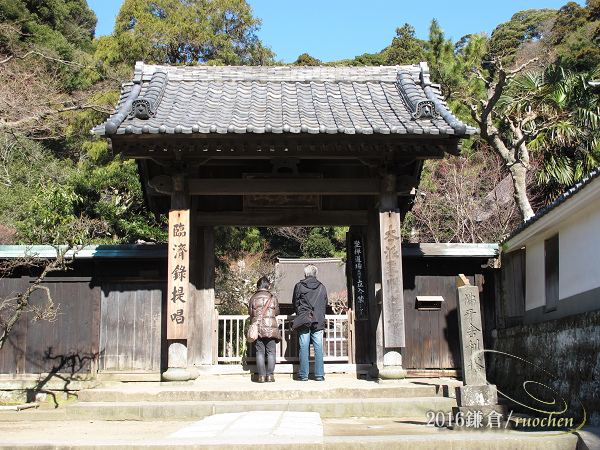
<instances>
[{"instance_id":1,"label":"grey-haired person in dark jacket and blue jeans","mask_svg":"<svg viewBox=\"0 0 600 450\"><path fill-rule=\"evenodd\" d=\"M325 311L328 300L327 289L317 280L317 273L317 267L312 264L304 268L304 280L296 283L292 299L297 316L301 316L305 311L312 315L310 326L302 325L298 328L298 343L300 345L300 371L298 375L301 381L308 380L308 354L311 342L315 354L315 380L323 381L325 379L323 329L325 328Z\"/></svg>"}]
</instances>

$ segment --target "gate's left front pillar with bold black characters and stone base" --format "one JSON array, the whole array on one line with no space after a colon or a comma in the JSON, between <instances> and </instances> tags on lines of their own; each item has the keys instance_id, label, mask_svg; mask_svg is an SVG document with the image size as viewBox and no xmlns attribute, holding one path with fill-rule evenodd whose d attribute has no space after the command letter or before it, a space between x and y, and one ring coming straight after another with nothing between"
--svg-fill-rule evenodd
<instances>
[{"instance_id":1,"label":"gate's left front pillar with bold black characters and stone base","mask_svg":"<svg viewBox=\"0 0 600 450\"><path fill-rule=\"evenodd\" d=\"M186 381L187 331L190 285L190 197L186 179L173 174L171 210L169 211L168 288L167 288L167 347L168 368L165 381Z\"/></svg>"}]
</instances>

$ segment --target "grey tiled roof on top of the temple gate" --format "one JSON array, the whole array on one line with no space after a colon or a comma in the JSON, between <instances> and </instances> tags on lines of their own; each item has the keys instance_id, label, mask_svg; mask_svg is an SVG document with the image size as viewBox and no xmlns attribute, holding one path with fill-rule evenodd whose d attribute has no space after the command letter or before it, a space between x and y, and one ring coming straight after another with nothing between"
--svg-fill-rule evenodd
<instances>
[{"instance_id":1,"label":"grey tiled roof on top of the temple gate","mask_svg":"<svg viewBox=\"0 0 600 450\"><path fill-rule=\"evenodd\" d=\"M379 67L137 63L115 112L92 133L327 133L468 137L425 63Z\"/></svg>"}]
</instances>

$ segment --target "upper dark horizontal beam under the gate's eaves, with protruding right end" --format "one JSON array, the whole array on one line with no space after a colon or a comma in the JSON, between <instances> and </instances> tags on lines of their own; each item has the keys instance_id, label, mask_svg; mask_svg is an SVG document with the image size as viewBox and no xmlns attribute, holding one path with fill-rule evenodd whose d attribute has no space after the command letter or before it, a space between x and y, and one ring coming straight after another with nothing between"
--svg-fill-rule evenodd
<instances>
[{"instance_id":1,"label":"upper dark horizontal beam under the gate's eaves, with protruding right end","mask_svg":"<svg viewBox=\"0 0 600 450\"><path fill-rule=\"evenodd\" d=\"M418 185L402 180L398 194L408 194ZM190 195L379 195L379 179L193 179L189 180Z\"/></svg>"}]
</instances>

